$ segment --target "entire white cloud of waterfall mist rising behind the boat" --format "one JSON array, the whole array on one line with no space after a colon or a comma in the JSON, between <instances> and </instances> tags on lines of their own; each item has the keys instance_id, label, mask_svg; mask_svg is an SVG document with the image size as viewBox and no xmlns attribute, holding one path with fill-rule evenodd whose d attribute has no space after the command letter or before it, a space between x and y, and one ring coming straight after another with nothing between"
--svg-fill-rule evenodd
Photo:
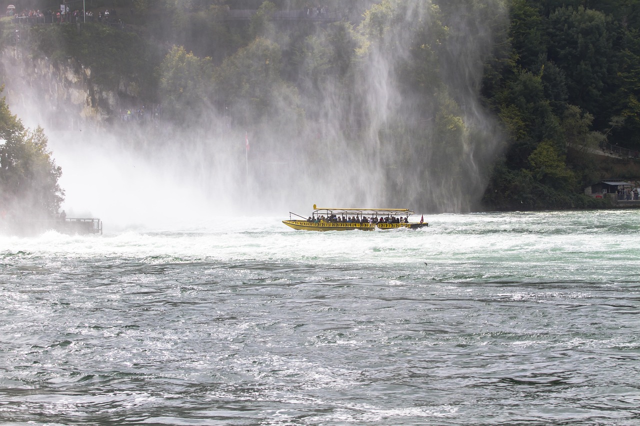
<instances>
[{"instance_id":1,"label":"entire white cloud of waterfall mist rising behind the boat","mask_svg":"<svg viewBox=\"0 0 640 426\"><path fill-rule=\"evenodd\" d=\"M238 100L191 114L180 127L84 120L50 131L51 111L29 93L33 85L9 78L4 95L28 127L45 128L63 169L67 215L127 228L231 214L306 215L314 203L463 212L476 207L500 150L479 92L496 26L507 17L499 0L440 6L381 2L351 34L346 24L317 27L306 50L285 33L267 34L282 51L296 49L299 72L286 86L267 88L270 114L252 123L234 116L243 107ZM355 43L344 69L320 78L305 73L305 61L321 57L314 49L331 47L337 36Z\"/></svg>"}]
</instances>

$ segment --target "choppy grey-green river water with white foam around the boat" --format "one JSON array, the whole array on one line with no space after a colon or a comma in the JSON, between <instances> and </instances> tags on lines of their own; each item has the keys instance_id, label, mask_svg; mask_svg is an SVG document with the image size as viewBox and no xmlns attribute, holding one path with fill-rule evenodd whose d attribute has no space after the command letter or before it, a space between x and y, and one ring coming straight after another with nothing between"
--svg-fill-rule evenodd
<instances>
[{"instance_id":1,"label":"choppy grey-green river water with white foam around the boat","mask_svg":"<svg viewBox=\"0 0 640 426\"><path fill-rule=\"evenodd\" d=\"M0 423L640 424L640 212L280 219L0 237Z\"/></svg>"}]
</instances>

